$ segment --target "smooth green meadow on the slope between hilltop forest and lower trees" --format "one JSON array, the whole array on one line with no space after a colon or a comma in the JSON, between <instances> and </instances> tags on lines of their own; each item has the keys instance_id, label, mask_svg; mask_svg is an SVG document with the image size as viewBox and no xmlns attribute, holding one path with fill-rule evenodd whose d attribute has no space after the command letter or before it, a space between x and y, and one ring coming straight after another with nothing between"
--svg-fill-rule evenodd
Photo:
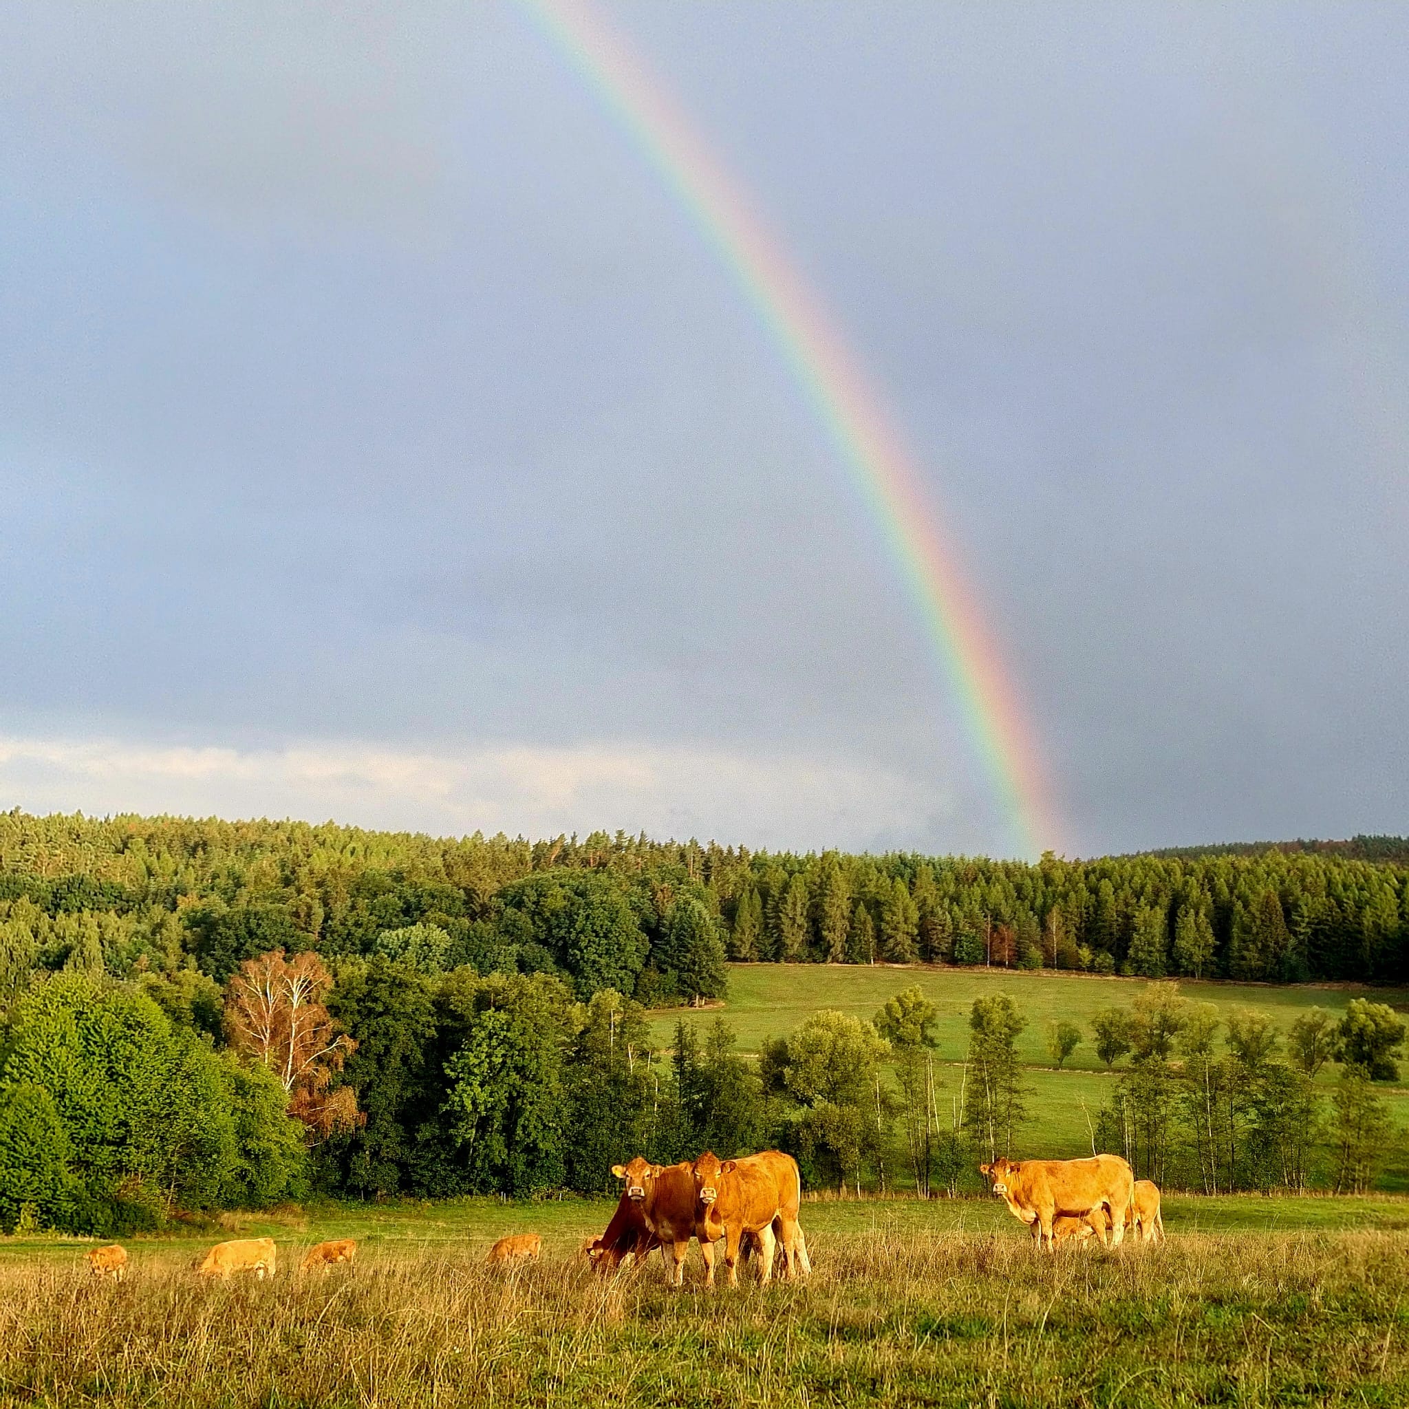
<instances>
[{"instance_id":1,"label":"smooth green meadow on the slope between hilltop forest and lower trees","mask_svg":"<svg viewBox=\"0 0 1409 1409\"><path fill-rule=\"evenodd\" d=\"M968 1013L974 999L982 993L1007 993L1027 1017L1027 1029L1019 1038L1017 1050L1029 1064L1029 1106L1033 1120L1022 1131L1020 1153L1053 1158L1091 1154L1091 1123L1105 1105L1115 1076L1096 1060L1088 1024L1092 1013L1102 1007L1130 1005L1147 986L1146 979L960 969L926 964L731 964L728 999L721 1007L652 1013L652 1034L661 1045L668 1047L678 1020L683 1019L703 1031L716 1017L724 1017L738 1034L740 1047L757 1053L765 1038L792 1031L817 1009L834 1007L869 1019L886 999L912 985L923 989L940 1013L937 1053L945 1062L941 1102L958 1096L962 1060L968 1050ZM1195 983L1181 979L1179 991L1192 1002L1215 1003L1224 1012L1234 1007L1264 1009L1284 1029L1308 1007L1343 1013L1353 998L1363 996L1409 1012L1409 989L1402 988L1365 988L1355 983ZM1061 1017L1079 1023L1086 1040L1064 1069L1057 1071L1047 1053L1047 1033ZM1117 1065L1116 1071L1119 1069ZM1332 1076L1332 1071L1327 1071L1323 1079L1329 1082ZM1409 1088L1401 1085L1381 1089L1396 1124L1409 1129ZM1389 1160L1381 1185L1395 1192L1409 1191L1409 1148L1403 1143Z\"/></svg>"}]
</instances>

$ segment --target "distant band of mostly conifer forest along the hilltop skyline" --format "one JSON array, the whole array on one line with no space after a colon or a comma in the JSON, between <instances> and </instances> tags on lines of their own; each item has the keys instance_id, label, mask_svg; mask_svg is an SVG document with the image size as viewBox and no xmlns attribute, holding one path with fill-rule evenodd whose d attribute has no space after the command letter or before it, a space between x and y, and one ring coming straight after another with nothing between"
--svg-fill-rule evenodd
<instances>
[{"instance_id":1,"label":"distant band of mostly conifer forest along the hilltop skyline","mask_svg":"<svg viewBox=\"0 0 1409 1409\"><path fill-rule=\"evenodd\" d=\"M726 957L1403 982L1398 840L1026 864L13 812L0 999L75 954L118 976L223 983L276 948L331 961L397 943L423 965L552 972L579 998L614 988L651 1006L720 996Z\"/></svg>"}]
</instances>

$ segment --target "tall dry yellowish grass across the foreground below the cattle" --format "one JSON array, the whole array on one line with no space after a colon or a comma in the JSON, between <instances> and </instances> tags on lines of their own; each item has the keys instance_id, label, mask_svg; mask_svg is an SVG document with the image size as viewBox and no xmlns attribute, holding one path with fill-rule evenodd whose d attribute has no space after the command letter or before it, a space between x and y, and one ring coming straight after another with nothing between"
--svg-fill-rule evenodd
<instances>
[{"instance_id":1,"label":"tall dry yellowish grass across the foreground below the cattle","mask_svg":"<svg viewBox=\"0 0 1409 1409\"><path fill-rule=\"evenodd\" d=\"M0 1271L0 1403L1403 1405L1398 1233L1185 1234L1036 1255L1020 1234L817 1236L805 1285L671 1292L573 1262L389 1255L201 1285Z\"/></svg>"}]
</instances>

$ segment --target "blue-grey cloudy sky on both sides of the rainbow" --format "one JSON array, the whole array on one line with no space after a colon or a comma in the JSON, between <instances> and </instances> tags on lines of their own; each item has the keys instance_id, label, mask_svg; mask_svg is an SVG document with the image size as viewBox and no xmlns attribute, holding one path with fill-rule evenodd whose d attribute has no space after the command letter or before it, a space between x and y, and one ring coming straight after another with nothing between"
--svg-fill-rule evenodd
<instances>
[{"instance_id":1,"label":"blue-grey cloudy sky on both sides of the rainbow","mask_svg":"<svg viewBox=\"0 0 1409 1409\"><path fill-rule=\"evenodd\" d=\"M1403 831L1409 14L612 4L895 409L1071 854ZM0 802L1007 848L513 6L0 15Z\"/></svg>"}]
</instances>

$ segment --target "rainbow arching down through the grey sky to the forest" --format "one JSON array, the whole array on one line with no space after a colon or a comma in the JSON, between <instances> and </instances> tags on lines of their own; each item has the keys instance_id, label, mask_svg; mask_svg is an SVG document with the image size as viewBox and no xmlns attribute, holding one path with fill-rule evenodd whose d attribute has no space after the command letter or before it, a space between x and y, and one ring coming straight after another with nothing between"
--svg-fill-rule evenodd
<instances>
[{"instance_id":1,"label":"rainbow arching down through the grey sky to the forest","mask_svg":"<svg viewBox=\"0 0 1409 1409\"><path fill-rule=\"evenodd\" d=\"M1017 689L923 480L831 318L751 201L623 37L585 0L519 0L674 192L733 273L845 465L913 602L1010 844L1055 847L1037 750Z\"/></svg>"}]
</instances>

